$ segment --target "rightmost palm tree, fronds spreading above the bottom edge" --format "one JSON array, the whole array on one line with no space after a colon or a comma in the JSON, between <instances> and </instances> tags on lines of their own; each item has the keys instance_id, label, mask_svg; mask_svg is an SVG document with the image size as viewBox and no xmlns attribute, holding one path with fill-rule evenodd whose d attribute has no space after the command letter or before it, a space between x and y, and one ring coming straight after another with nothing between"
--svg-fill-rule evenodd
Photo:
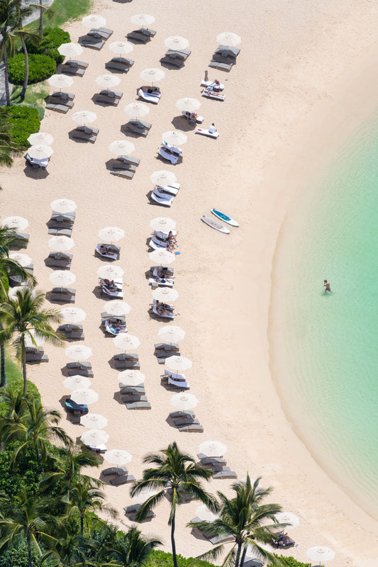
<instances>
[{"instance_id":1,"label":"rightmost palm tree, fronds spreading above the bottom edge","mask_svg":"<svg viewBox=\"0 0 378 567\"><path fill-rule=\"evenodd\" d=\"M205 534L233 537L233 546L226 554L223 566L243 567L247 548L252 546L257 557L265 559L271 565L284 567L277 556L269 553L259 544L271 543L272 533L287 525L278 524L275 520L275 515L282 510L279 504L262 504L262 500L273 489L272 487L261 488L260 480L261 477L252 484L250 476L247 475L246 481L234 483L235 498L232 499L218 492L218 498L221 501L218 519L213 522L189 522L187 524ZM224 549L224 545L218 545L199 558L211 561L220 556Z\"/></svg>"}]
</instances>

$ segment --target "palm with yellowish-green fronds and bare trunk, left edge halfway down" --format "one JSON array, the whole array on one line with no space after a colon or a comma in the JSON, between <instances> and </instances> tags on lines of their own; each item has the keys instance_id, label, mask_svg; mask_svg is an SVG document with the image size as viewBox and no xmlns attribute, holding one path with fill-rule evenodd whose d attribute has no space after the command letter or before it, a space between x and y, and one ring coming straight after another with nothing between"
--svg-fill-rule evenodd
<instances>
[{"instance_id":1,"label":"palm with yellowish-green fronds and bare trunk, left edge halfway down","mask_svg":"<svg viewBox=\"0 0 378 567\"><path fill-rule=\"evenodd\" d=\"M0 342L9 340L13 335L16 337L18 360L23 370L23 393L26 394L26 337L36 345L32 331L39 338L47 342L61 346L63 337L55 332L50 323L60 322L60 313L55 309L42 307L45 300L44 293L33 296L30 288L25 287L18 290L13 298L8 298L6 303L0 305L0 319L4 330L0 331Z\"/></svg>"}]
</instances>

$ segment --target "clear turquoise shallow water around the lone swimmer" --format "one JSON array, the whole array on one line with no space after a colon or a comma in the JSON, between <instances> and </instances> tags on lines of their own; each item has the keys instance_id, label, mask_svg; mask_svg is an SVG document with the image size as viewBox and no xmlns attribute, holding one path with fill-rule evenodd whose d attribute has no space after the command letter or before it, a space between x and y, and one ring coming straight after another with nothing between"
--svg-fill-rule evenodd
<instances>
[{"instance_id":1,"label":"clear turquoise shallow water around the lone swimmer","mask_svg":"<svg viewBox=\"0 0 378 567\"><path fill-rule=\"evenodd\" d=\"M318 464L378 519L378 116L302 200L274 263L274 379Z\"/></svg>"}]
</instances>

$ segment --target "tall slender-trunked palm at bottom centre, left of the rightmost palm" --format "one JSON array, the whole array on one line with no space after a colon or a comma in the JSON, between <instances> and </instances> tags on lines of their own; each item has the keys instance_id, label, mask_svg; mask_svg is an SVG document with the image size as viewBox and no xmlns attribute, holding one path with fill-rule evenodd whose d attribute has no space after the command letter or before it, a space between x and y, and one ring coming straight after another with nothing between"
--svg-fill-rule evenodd
<instances>
[{"instance_id":1,"label":"tall slender-trunked palm at bottom centre, left of the rightmost palm","mask_svg":"<svg viewBox=\"0 0 378 567\"><path fill-rule=\"evenodd\" d=\"M162 500L166 493L169 493L171 500L171 511L169 514L168 525L171 526L171 544L174 567L177 567L176 544L174 541L174 524L176 519L177 505L182 504L183 493L196 500L201 500L210 509L216 510L216 504L208 493L201 487L201 481L209 481L213 471L206 470L196 464L193 457L182 453L177 447L177 443L169 444L167 449L160 451L161 454L148 454L143 462L155 464L156 468L146 468L143 471L143 478L137 481L130 490L132 496L138 495L143 488L158 490L143 503L135 520L144 520L148 512Z\"/></svg>"}]
</instances>

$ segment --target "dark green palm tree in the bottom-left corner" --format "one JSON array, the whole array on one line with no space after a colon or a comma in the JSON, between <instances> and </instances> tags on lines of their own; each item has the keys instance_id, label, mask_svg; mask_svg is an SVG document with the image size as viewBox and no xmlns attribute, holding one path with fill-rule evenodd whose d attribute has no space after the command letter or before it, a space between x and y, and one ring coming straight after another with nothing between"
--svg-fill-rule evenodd
<instances>
[{"instance_id":1,"label":"dark green palm tree in the bottom-left corner","mask_svg":"<svg viewBox=\"0 0 378 567\"><path fill-rule=\"evenodd\" d=\"M50 499L28 495L24 489L9 504L7 497L1 498L0 506L0 553L9 544L26 542L28 566L33 567L32 548L41 554L40 540L48 545L55 541L52 531L60 527L60 520L50 514Z\"/></svg>"}]
</instances>

